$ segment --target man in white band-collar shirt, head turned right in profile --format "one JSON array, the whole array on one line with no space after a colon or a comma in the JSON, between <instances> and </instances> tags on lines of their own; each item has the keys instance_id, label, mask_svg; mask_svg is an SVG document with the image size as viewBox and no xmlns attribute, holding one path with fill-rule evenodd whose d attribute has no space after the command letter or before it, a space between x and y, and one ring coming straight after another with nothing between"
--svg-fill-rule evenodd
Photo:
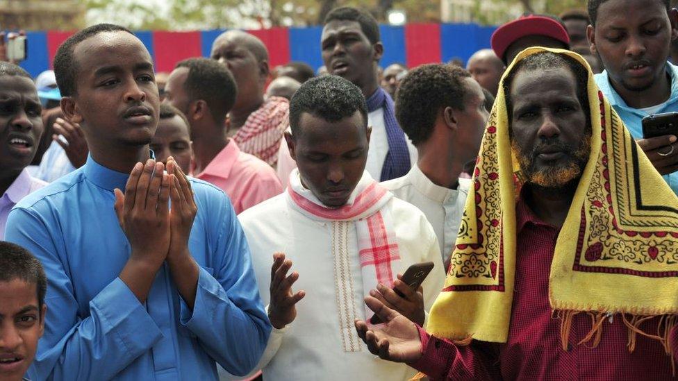
<instances>
[{"instance_id":1,"label":"man in white band-collar shirt, head turned right in profile","mask_svg":"<svg viewBox=\"0 0 678 381\"><path fill-rule=\"evenodd\" d=\"M422 65L402 81L395 116L419 160L405 176L382 185L424 212L446 261L470 187L459 176L465 164L475 161L488 118L485 94L461 67Z\"/></svg>"}]
</instances>

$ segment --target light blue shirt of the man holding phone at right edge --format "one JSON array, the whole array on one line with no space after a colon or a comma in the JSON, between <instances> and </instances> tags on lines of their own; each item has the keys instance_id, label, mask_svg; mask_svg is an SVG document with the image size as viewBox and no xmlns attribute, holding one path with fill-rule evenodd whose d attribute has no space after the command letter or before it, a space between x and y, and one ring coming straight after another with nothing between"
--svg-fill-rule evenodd
<instances>
[{"instance_id":1,"label":"light blue shirt of the man holding phone at right edge","mask_svg":"<svg viewBox=\"0 0 678 381\"><path fill-rule=\"evenodd\" d=\"M678 67L666 62L666 71L671 77L671 95L668 101L663 104L663 107L656 111L657 114L661 112L678 111ZM610 84L607 70L595 75L595 83L598 88L607 98L607 101L615 109L619 117L622 119L626 128L631 133L634 139L643 139L643 126L640 120L647 116L647 112L632 108L626 104L624 99L617 94ZM673 189L675 194L678 194L678 172L673 172L663 176L666 183Z\"/></svg>"}]
</instances>

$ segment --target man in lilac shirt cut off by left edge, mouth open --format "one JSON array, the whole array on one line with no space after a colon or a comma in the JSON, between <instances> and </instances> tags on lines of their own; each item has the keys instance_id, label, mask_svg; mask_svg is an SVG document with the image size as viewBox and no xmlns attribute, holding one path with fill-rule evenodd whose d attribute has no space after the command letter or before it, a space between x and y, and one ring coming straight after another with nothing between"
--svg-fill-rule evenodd
<instances>
[{"instance_id":1,"label":"man in lilac shirt cut off by left edge, mouth open","mask_svg":"<svg viewBox=\"0 0 678 381\"><path fill-rule=\"evenodd\" d=\"M47 185L28 167L42 135L42 105L31 75L0 61L0 240L7 216L22 198Z\"/></svg>"}]
</instances>

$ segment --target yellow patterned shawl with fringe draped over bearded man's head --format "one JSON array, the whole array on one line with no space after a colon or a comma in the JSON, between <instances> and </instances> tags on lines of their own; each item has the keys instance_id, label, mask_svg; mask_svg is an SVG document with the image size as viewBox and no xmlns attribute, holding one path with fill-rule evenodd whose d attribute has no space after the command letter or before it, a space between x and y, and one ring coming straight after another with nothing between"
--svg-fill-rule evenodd
<instances>
[{"instance_id":1,"label":"yellow patterned shawl with fringe draped over bearded man's head","mask_svg":"<svg viewBox=\"0 0 678 381\"><path fill-rule=\"evenodd\" d=\"M522 51L506 73L516 62L540 51L566 54L589 69L576 53L531 48ZM597 314L598 322L606 313L622 313L629 332L637 332L640 316L678 312L678 198L638 148L588 71L591 154L558 236L549 277L549 302L563 319L563 338L569 332L568 319L578 312ZM431 309L427 328L431 334L506 342L520 178L500 85L445 289ZM631 314L632 323L624 314ZM675 316L662 319L665 332L675 321ZM594 331L595 327L589 339L600 339ZM669 350L668 340L664 341Z\"/></svg>"}]
</instances>

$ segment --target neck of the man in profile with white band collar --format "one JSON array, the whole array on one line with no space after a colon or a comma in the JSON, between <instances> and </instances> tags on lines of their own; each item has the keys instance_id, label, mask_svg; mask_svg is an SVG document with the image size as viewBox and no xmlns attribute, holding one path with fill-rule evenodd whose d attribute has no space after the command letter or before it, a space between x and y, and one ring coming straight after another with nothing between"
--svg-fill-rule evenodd
<instances>
[{"instance_id":1,"label":"neck of the man in profile with white band collar","mask_svg":"<svg viewBox=\"0 0 678 381\"><path fill-rule=\"evenodd\" d=\"M431 140L429 139L429 142ZM454 151L454 149L433 146L432 144L419 146L417 147L419 153L417 167L433 184L448 189L456 189L459 185L459 174L464 163L459 162L454 157Z\"/></svg>"}]
</instances>

